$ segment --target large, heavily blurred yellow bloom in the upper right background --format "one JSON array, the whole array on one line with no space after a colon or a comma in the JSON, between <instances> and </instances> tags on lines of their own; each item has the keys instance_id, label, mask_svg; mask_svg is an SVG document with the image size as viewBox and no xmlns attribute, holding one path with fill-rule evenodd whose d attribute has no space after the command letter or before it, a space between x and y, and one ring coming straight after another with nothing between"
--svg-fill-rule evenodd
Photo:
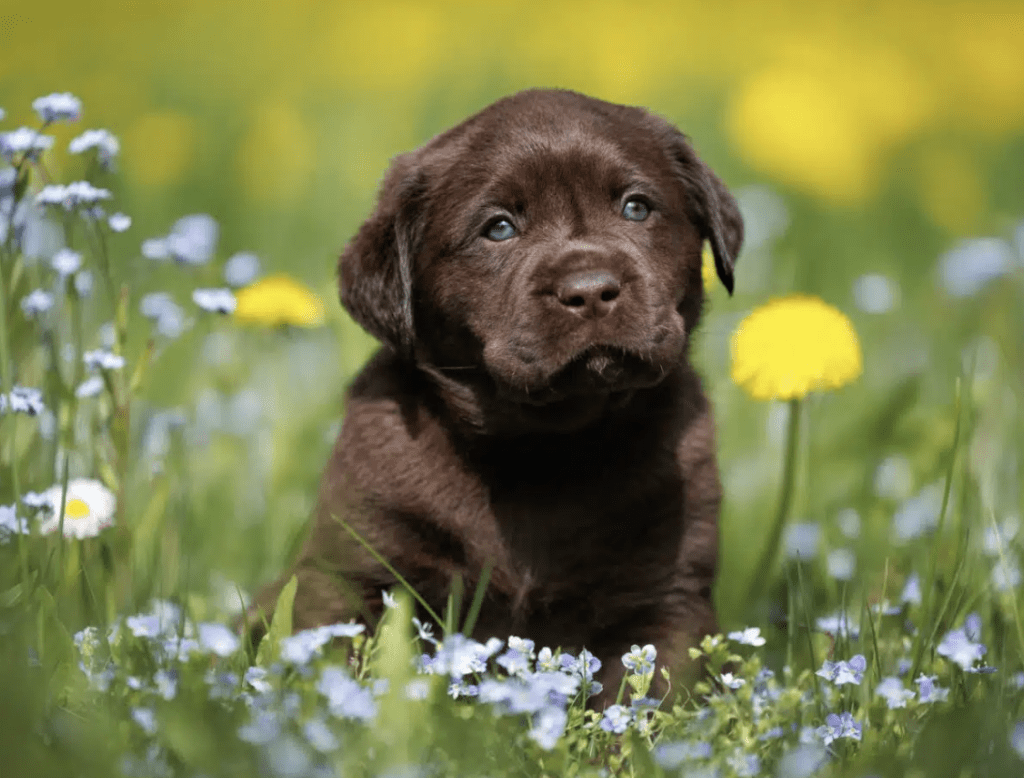
<instances>
[{"instance_id":1,"label":"large, heavily blurred yellow bloom in the upper right background","mask_svg":"<svg viewBox=\"0 0 1024 778\"><path fill-rule=\"evenodd\" d=\"M805 31L740 81L726 126L754 167L835 203L874 193L886 154L938 111L928 71L853 30Z\"/></svg>"}]
</instances>

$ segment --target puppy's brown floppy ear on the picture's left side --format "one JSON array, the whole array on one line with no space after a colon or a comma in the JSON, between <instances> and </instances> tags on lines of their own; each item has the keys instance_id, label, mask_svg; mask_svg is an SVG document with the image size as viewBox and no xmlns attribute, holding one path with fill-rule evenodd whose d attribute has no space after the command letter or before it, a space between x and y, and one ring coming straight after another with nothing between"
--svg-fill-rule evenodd
<instances>
[{"instance_id":1,"label":"puppy's brown floppy ear on the picture's left side","mask_svg":"<svg viewBox=\"0 0 1024 778\"><path fill-rule=\"evenodd\" d=\"M384 177L377 210L338 261L341 304L399 354L413 352L413 260L423 239L426 181L412 155Z\"/></svg>"}]
</instances>

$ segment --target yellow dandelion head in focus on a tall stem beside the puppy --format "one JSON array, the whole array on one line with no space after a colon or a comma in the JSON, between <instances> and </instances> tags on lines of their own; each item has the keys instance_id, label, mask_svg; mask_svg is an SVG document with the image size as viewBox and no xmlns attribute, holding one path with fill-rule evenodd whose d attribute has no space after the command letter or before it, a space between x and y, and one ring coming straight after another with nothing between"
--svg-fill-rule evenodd
<instances>
[{"instance_id":1,"label":"yellow dandelion head in focus on a tall stem beside the puppy","mask_svg":"<svg viewBox=\"0 0 1024 778\"><path fill-rule=\"evenodd\" d=\"M732 335L732 380L755 399L799 399L838 389L862 370L850 319L817 297L772 300Z\"/></svg>"}]
</instances>

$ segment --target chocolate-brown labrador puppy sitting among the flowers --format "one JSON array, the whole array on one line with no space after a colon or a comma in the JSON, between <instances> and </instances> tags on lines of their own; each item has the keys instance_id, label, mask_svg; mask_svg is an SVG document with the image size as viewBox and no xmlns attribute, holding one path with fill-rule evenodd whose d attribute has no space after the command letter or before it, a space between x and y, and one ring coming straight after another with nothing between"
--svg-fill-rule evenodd
<instances>
[{"instance_id":1,"label":"chocolate-brown labrador puppy sitting among the flowers","mask_svg":"<svg viewBox=\"0 0 1024 778\"><path fill-rule=\"evenodd\" d=\"M380 614L396 580L344 521L437 613L488 569L474 635L586 647L612 696L633 643L685 665L717 629L705 241L731 292L736 203L642 109L525 91L398 157L340 261L383 348L253 615L293 574L297 630Z\"/></svg>"}]
</instances>

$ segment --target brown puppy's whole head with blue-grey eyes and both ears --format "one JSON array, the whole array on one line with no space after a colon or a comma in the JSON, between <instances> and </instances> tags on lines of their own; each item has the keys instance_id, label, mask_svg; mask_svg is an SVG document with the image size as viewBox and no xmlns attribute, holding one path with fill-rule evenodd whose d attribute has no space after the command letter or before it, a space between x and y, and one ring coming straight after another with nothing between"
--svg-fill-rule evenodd
<instances>
[{"instance_id":1,"label":"brown puppy's whole head with blue-grey eyes and both ears","mask_svg":"<svg viewBox=\"0 0 1024 778\"><path fill-rule=\"evenodd\" d=\"M572 429L685 358L706 240L731 292L742 221L678 130L527 91L394 161L341 300L476 426Z\"/></svg>"}]
</instances>

